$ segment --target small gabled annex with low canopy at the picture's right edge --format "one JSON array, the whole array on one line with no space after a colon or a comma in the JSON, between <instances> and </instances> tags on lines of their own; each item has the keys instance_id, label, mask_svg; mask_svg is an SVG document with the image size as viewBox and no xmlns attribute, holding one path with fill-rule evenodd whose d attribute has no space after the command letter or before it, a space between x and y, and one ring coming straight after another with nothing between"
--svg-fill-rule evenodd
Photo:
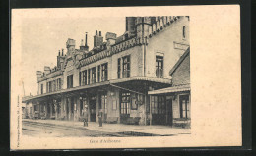
<instances>
[{"instance_id":1,"label":"small gabled annex with low canopy at the picture's right edge","mask_svg":"<svg viewBox=\"0 0 256 156\"><path fill-rule=\"evenodd\" d=\"M170 70L172 86L158 90L149 91L152 108L158 108L161 102L166 108L165 116L157 116L153 119L165 119L167 125L181 126L190 128L191 124L191 96L190 96L190 48L180 57L174 67ZM152 111L153 116L156 109Z\"/></svg>"}]
</instances>

